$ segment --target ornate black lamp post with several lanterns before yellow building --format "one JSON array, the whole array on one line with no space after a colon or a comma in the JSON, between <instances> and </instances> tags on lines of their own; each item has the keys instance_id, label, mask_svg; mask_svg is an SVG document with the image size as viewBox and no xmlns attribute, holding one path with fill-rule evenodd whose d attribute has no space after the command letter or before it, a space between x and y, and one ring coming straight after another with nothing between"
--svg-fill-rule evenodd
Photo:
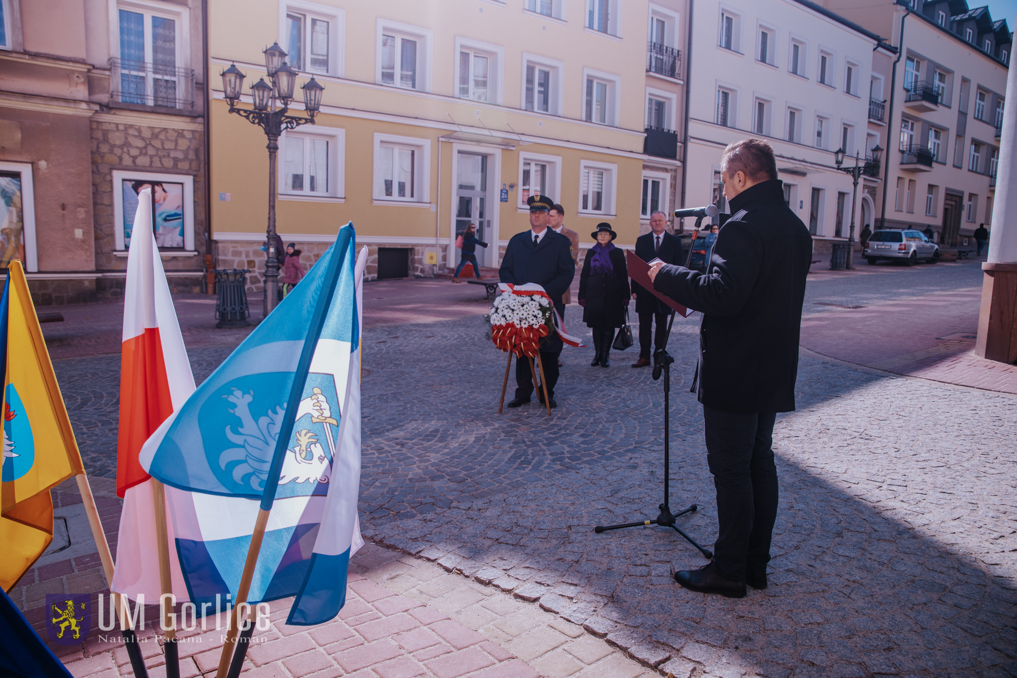
<instances>
[{"instance_id":1,"label":"ornate black lamp post with several lanterns before yellow building","mask_svg":"<svg viewBox=\"0 0 1017 678\"><path fill-rule=\"evenodd\" d=\"M317 80L311 79L301 85L304 91L304 109L309 117L287 115L293 90L297 83L297 71L286 63L286 52L279 43L264 51L264 66L272 84L259 78L250 86L254 109L237 108L240 101L243 73L236 64L222 72L223 91L230 103L230 113L236 113L247 122L264 130L268 137L268 227L265 229L264 260L264 309L262 317L267 317L279 303L279 253L276 251L276 155L279 151L279 136L283 130L295 129L307 123L314 124L314 116L321 108L321 91L324 89Z\"/></svg>"}]
</instances>

